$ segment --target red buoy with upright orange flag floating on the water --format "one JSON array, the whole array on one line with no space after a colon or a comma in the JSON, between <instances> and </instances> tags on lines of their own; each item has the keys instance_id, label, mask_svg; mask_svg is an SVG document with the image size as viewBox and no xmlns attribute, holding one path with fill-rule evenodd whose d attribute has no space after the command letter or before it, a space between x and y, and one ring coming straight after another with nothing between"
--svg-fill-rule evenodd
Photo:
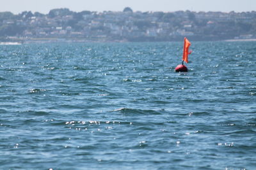
<instances>
[{"instance_id":1,"label":"red buoy with upright orange flag floating on the water","mask_svg":"<svg viewBox=\"0 0 256 170\"><path fill-rule=\"evenodd\" d=\"M188 67L186 67L184 65L184 61L186 63L188 63L188 55L191 54L191 52L189 52L189 46L191 45L191 43L188 41L188 39L185 37L184 38L184 46L183 46L183 56L182 56L182 64L179 64L176 68L175 71L176 72L188 72Z\"/></svg>"}]
</instances>

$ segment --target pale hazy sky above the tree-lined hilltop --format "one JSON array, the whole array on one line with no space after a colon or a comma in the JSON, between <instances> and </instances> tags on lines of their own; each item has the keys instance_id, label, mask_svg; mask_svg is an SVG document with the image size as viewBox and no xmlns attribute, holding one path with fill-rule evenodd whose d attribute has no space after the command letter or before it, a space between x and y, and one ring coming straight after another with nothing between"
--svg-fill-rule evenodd
<instances>
[{"instance_id":1,"label":"pale hazy sky above the tree-lined hilltop","mask_svg":"<svg viewBox=\"0 0 256 170\"><path fill-rule=\"evenodd\" d=\"M0 0L0 11L49 13L54 8L72 11L256 11L256 0Z\"/></svg>"}]
</instances>

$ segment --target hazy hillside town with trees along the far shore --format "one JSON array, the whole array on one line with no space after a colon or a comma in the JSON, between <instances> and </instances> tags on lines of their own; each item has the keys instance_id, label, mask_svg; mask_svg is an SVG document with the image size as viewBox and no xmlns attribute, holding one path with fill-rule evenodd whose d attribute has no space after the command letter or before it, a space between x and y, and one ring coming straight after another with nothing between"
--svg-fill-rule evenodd
<instances>
[{"instance_id":1,"label":"hazy hillside town with trees along the far shore","mask_svg":"<svg viewBox=\"0 0 256 170\"><path fill-rule=\"evenodd\" d=\"M70 11L48 14L0 12L0 42L219 41L255 39L256 11Z\"/></svg>"}]
</instances>

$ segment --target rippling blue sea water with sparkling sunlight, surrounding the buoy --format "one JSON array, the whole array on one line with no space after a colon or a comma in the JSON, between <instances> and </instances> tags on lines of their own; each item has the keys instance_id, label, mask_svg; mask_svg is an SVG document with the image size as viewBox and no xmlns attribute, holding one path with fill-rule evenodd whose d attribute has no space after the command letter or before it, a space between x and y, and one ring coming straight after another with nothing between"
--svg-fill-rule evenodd
<instances>
[{"instance_id":1,"label":"rippling blue sea water with sparkling sunlight, surrounding the buoy","mask_svg":"<svg viewBox=\"0 0 256 170\"><path fill-rule=\"evenodd\" d=\"M256 42L0 46L0 169L256 169Z\"/></svg>"}]
</instances>

